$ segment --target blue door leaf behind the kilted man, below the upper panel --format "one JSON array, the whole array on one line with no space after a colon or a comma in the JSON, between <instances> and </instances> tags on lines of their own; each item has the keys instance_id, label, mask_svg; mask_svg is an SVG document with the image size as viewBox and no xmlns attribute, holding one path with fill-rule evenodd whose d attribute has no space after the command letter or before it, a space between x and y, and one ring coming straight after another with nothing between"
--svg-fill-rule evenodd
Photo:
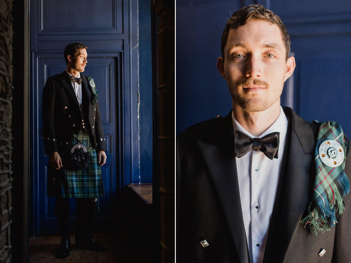
<instances>
[{"instance_id":1,"label":"blue door leaf behind the kilted man, below the upper panel","mask_svg":"<svg viewBox=\"0 0 351 263\"><path fill-rule=\"evenodd\" d=\"M59 54L58 54L59 55ZM88 54L88 63L85 71L82 73L84 76L92 76L99 92L99 107L101 113L102 126L104 127L104 134L106 136L106 156L107 161L104 166L101 167L102 178L104 182L105 197L99 199L99 205L101 213L98 217L98 225L104 225L102 221L104 219L111 218L113 209L109 207L113 202L112 198L116 195L116 191L119 188L119 180L116 175L118 174L118 151L116 150L118 141L118 107L117 102L119 101L118 83L120 83L119 70L120 67L120 53L97 53L92 52ZM46 79L49 76L55 75L58 72L63 72L66 69L65 61L60 56L53 57L50 53L37 53L37 65L35 68L38 69L38 84L35 90L36 96L38 96L38 115L35 120L38 122L39 135L38 140L38 155L42 156L39 158L39 180L38 180L38 191L40 193L39 202L39 232L40 233L54 233L57 231L56 228L56 216L54 214L54 200L55 198L46 197L46 178L47 178L47 166L48 166L48 155L44 153L44 142L40 134L40 127L42 126L41 121L41 107L40 102L42 101L42 90L44 88ZM45 173L41 173L40 167L45 167ZM71 231L73 232L74 227L74 213L75 213L75 200L70 200L70 212L71 212Z\"/></svg>"}]
</instances>

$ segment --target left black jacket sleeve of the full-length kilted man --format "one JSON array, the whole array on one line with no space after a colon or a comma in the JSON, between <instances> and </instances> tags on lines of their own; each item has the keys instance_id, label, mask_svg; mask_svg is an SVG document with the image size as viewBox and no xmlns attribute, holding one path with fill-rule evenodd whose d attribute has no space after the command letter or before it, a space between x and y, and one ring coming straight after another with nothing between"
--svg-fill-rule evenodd
<instances>
[{"instance_id":1,"label":"left black jacket sleeve of the full-length kilted man","mask_svg":"<svg viewBox=\"0 0 351 263\"><path fill-rule=\"evenodd\" d=\"M41 103L42 131L45 154L58 151L54 127L55 86L52 78L48 78L43 89Z\"/></svg>"}]
</instances>

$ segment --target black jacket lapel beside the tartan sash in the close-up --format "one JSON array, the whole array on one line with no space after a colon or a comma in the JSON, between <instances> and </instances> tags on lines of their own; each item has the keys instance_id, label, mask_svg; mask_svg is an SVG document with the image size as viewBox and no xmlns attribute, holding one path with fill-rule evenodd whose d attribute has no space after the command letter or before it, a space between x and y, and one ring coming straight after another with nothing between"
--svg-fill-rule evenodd
<instances>
[{"instance_id":1,"label":"black jacket lapel beside the tartan sash in the close-up","mask_svg":"<svg viewBox=\"0 0 351 263\"><path fill-rule=\"evenodd\" d=\"M277 224L270 225L263 260L267 263L284 262L292 237L309 205L312 190L311 175L314 174L316 131L312 129L310 123L299 117L292 109L284 107L284 112L292 118L289 161L285 166L287 169L285 186L283 186L281 195L276 198L276 202L279 198L283 198L281 216L277 218ZM282 179L281 177L280 180Z\"/></svg>"}]
</instances>

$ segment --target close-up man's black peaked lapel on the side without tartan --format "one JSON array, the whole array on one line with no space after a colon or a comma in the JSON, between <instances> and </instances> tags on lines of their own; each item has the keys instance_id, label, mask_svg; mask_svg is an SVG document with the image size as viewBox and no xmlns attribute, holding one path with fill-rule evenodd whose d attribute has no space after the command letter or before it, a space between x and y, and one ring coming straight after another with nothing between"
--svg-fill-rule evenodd
<instances>
[{"instance_id":1,"label":"close-up man's black peaked lapel on the side without tartan","mask_svg":"<svg viewBox=\"0 0 351 263\"><path fill-rule=\"evenodd\" d=\"M223 208L240 262L248 263L231 113L223 118L208 141L198 142Z\"/></svg>"}]
</instances>

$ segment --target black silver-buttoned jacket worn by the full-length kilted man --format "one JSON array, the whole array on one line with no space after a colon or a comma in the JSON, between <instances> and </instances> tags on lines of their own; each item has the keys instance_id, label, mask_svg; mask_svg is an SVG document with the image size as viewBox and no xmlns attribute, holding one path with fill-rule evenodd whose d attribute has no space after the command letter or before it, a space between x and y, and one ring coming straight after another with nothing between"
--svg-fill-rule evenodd
<instances>
[{"instance_id":1,"label":"black silver-buttoned jacket worn by the full-length kilted man","mask_svg":"<svg viewBox=\"0 0 351 263\"><path fill-rule=\"evenodd\" d=\"M82 106L84 126L90 135L92 146L106 151L104 130L102 128L99 102L93 105L87 78L82 76ZM83 114L71 80L66 71L49 77L42 96L42 131L45 154L60 152L71 147L73 133L78 134Z\"/></svg>"}]
</instances>

